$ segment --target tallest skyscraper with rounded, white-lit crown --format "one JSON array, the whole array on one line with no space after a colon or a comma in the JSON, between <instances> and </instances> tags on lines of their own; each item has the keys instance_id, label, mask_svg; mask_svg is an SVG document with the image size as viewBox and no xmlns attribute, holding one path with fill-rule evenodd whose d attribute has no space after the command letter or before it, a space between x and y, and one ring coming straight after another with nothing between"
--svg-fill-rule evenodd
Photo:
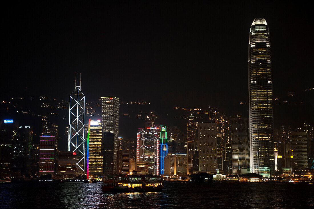
<instances>
[{"instance_id":1,"label":"tallest skyscraper with rounded, white-lit crown","mask_svg":"<svg viewBox=\"0 0 314 209\"><path fill-rule=\"evenodd\" d=\"M254 19L248 45L250 170L264 177L274 171L271 45L265 19Z\"/></svg>"}]
</instances>

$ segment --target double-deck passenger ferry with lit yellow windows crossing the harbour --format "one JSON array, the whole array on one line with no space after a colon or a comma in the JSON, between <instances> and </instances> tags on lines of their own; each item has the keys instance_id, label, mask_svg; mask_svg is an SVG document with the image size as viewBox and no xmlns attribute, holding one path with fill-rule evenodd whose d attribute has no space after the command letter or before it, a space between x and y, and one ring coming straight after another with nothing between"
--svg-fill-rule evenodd
<instances>
[{"instance_id":1,"label":"double-deck passenger ferry with lit yellow windows crossing the harbour","mask_svg":"<svg viewBox=\"0 0 314 209\"><path fill-rule=\"evenodd\" d=\"M154 175L103 176L104 192L158 192L164 188L163 177Z\"/></svg>"}]
</instances>

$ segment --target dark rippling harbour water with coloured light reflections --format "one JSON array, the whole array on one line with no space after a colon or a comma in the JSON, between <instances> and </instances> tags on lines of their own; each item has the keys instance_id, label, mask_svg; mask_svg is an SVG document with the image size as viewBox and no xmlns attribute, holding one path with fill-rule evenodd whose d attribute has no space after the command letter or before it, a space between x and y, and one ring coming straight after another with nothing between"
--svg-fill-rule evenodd
<instances>
[{"instance_id":1,"label":"dark rippling harbour water with coloured light reflections","mask_svg":"<svg viewBox=\"0 0 314 209\"><path fill-rule=\"evenodd\" d=\"M314 184L164 183L163 192L103 193L101 183L0 184L0 208L310 208Z\"/></svg>"}]
</instances>

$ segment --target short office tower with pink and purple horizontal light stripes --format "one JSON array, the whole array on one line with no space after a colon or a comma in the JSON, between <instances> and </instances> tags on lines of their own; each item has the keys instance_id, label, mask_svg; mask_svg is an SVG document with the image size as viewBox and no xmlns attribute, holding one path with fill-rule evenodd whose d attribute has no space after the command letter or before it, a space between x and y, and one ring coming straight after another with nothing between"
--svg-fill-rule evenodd
<instances>
[{"instance_id":1,"label":"short office tower with pink and purple horizontal light stripes","mask_svg":"<svg viewBox=\"0 0 314 209\"><path fill-rule=\"evenodd\" d=\"M54 175L56 144L54 136L40 137L39 175Z\"/></svg>"}]
</instances>

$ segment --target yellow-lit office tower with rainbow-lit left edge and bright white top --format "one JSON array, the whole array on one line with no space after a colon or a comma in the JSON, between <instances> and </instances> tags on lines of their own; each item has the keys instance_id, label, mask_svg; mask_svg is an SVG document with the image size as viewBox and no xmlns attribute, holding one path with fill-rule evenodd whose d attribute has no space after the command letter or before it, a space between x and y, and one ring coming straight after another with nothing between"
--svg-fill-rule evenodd
<instances>
[{"instance_id":1,"label":"yellow-lit office tower with rainbow-lit left edge and bright white top","mask_svg":"<svg viewBox=\"0 0 314 209\"><path fill-rule=\"evenodd\" d=\"M100 120L94 121L89 119L88 126L88 163L87 169L90 174L102 174L103 172L103 152L102 152L102 134Z\"/></svg>"}]
</instances>

